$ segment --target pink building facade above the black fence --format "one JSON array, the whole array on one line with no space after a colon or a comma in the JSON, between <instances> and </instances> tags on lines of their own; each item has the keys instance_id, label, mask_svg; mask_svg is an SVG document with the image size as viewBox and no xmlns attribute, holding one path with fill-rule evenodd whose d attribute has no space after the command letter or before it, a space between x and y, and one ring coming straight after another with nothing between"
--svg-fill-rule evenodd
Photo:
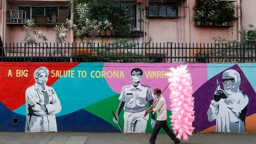
<instances>
[{"instance_id":1,"label":"pink building facade above the black fence","mask_svg":"<svg viewBox=\"0 0 256 144\"><path fill-rule=\"evenodd\" d=\"M59 19L65 18L60 11L63 7L69 5L71 0L2 0L0 2L0 36L4 43L20 43L24 38L24 29L22 24L33 14L36 7L45 7L40 10L36 15L45 16L46 23L62 23ZM243 35L237 33L237 31L250 30L249 24L256 24L254 19L256 2L255 0L236 0L232 1L235 4L235 17L238 17L238 21L234 21L233 27L197 27L195 21L192 19L194 14L194 7L197 0L180 0L180 5L176 8L177 14L170 17L150 16L148 11L149 7L160 7L159 0L121 0L122 2L136 2L136 25L131 27L131 31L135 30L141 32L140 36L131 36L130 42L146 42L146 43L211 43L214 42L212 37L221 36L228 40L242 41ZM177 0L176 0L177 1ZM223 0L222 0L223 1ZM162 2L172 2L172 0L162 0ZM26 17L22 20L20 25L11 24L10 10L15 11L24 7L31 6L31 12L26 14ZM52 20L50 11L47 11L47 7L57 7L55 10L55 20ZM145 9L145 11L143 10ZM37 9L38 10L38 9ZM178 12L177 12L178 11ZM9 14L8 14L9 13ZM20 14L21 15L21 14ZM146 15L143 17L143 15ZM22 16L22 15L21 15ZM35 16L35 15L33 15ZM70 17L67 17L70 18ZM21 20L20 20L21 21ZM145 22L143 22L145 21ZM49 42L55 41L55 30L53 26L39 26L40 29L47 35ZM145 32L145 33L144 33ZM119 37L118 39L121 39ZM112 42L116 40L113 37L98 37L95 42ZM68 42L82 42L81 39L73 38L71 31L67 34Z\"/></svg>"}]
</instances>

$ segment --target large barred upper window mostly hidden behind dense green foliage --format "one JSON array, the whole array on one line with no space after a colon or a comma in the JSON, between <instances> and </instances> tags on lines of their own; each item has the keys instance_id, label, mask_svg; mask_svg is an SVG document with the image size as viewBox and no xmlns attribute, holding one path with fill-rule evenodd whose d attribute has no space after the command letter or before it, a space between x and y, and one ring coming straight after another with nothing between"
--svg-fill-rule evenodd
<instances>
[{"instance_id":1,"label":"large barred upper window mostly hidden behind dense green foliage","mask_svg":"<svg viewBox=\"0 0 256 144\"><path fill-rule=\"evenodd\" d=\"M112 1L99 0L89 1L90 18L97 21L108 20L111 27L107 27L106 35L114 36L140 36L142 13L141 5L134 0ZM76 13L74 14L76 16ZM104 31L102 33L104 35Z\"/></svg>"}]
</instances>

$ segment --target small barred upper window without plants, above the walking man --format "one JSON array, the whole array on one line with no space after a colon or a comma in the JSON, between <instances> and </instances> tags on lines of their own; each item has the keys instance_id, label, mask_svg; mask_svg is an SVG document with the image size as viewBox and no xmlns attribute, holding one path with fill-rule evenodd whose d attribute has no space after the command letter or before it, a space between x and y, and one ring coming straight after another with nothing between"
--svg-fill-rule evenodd
<instances>
[{"instance_id":1,"label":"small barred upper window without plants, above the walking man","mask_svg":"<svg viewBox=\"0 0 256 144\"><path fill-rule=\"evenodd\" d=\"M177 0L149 0L147 7L147 17L177 17Z\"/></svg>"}]
</instances>

